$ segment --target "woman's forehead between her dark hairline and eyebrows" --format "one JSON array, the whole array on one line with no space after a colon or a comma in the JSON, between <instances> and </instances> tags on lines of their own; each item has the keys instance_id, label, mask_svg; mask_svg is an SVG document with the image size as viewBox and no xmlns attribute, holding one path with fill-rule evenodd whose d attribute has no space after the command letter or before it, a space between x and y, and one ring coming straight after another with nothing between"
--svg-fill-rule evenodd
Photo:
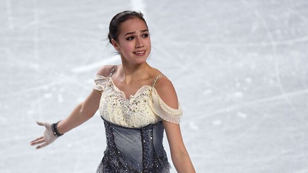
<instances>
[{"instance_id":1,"label":"woman's forehead between her dark hairline and eyebrows","mask_svg":"<svg viewBox=\"0 0 308 173\"><path fill-rule=\"evenodd\" d=\"M130 18L125 22L121 23L119 30L120 35L125 34L127 32L139 32L140 30L148 29L144 23L144 21L140 20L139 18Z\"/></svg>"}]
</instances>

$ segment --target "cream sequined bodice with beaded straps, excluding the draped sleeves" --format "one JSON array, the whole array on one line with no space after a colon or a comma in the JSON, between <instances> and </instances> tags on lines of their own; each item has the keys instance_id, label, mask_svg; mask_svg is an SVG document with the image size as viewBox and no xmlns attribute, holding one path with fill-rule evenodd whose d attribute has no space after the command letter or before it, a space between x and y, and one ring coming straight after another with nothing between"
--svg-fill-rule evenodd
<instances>
[{"instance_id":1,"label":"cream sequined bodice with beaded straps, excluding the draped sleeves","mask_svg":"<svg viewBox=\"0 0 308 173\"><path fill-rule=\"evenodd\" d=\"M148 105L153 84L158 77L152 86L144 85L126 99L124 92L114 85L111 75L112 72L100 100L102 118L124 127L142 127L162 120Z\"/></svg>"}]
</instances>

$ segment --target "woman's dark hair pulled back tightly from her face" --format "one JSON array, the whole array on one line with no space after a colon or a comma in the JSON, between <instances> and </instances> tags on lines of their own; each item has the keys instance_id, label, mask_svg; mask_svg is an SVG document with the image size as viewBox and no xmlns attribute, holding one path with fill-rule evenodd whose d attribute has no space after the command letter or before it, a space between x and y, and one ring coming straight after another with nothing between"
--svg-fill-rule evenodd
<instances>
[{"instance_id":1,"label":"woman's dark hair pulled back tightly from her face","mask_svg":"<svg viewBox=\"0 0 308 173\"><path fill-rule=\"evenodd\" d=\"M144 18L143 14L140 11L123 11L115 16L112 17L110 24L109 24L109 33L108 33L108 39L109 42L111 43L111 39L118 41L118 36L119 36L119 27L120 24L125 22L126 20L129 20L131 18L139 18L142 20L146 27L148 28ZM112 43L111 43L112 44Z\"/></svg>"}]
</instances>

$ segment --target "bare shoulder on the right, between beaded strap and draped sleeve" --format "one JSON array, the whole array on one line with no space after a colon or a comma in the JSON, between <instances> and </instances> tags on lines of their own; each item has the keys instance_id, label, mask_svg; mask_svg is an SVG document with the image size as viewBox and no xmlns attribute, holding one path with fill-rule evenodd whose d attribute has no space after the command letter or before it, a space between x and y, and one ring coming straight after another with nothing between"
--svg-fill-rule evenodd
<instances>
[{"instance_id":1,"label":"bare shoulder on the right, between beaded strap and draped sleeve","mask_svg":"<svg viewBox=\"0 0 308 173\"><path fill-rule=\"evenodd\" d=\"M177 92L167 76L160 76L156 81L154 88L157 90L159 97L163 102L171 108L178 109Z\"/></svg>"}]
</instances>

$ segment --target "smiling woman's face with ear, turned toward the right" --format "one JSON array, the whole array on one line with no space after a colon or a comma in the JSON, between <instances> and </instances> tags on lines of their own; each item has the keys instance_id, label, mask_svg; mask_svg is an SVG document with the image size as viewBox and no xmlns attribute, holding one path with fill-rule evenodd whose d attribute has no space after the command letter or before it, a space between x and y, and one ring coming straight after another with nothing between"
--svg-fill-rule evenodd
<instances>
[{"instance_id":1,"label":"smiling woman's face with ear, turned toward the right","mask_svg":"<svg viewBox=\"0 0 308 173\"><path fill-rule=\"evenodd\" d=\"M111 40L126 62L141 64L146 61L151 51L148 28L139 18L131 18L121 23L118 41Z\"/></svg>"}]
</instances>

